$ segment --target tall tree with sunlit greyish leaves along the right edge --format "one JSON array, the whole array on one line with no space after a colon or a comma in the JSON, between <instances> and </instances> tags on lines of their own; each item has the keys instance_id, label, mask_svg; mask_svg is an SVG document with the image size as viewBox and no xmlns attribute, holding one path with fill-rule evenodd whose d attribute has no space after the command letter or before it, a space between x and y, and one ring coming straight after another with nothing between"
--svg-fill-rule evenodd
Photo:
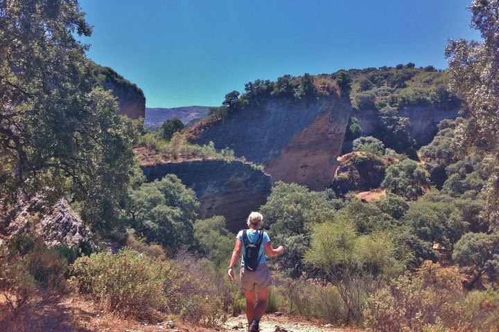
<instances>
[{"instance_id":1,"label":"tall tree with sunlit greyish leaves along the right edge","mask_svg":"<svg viewBox=\"0 0 499 332\"><path fill-rule=\"evenodd\" d=\"M475 0L469 8L483 41L451 39L446 47L450 86L466 114L456 141L465 151L490 155L485 214L499 228L499 1Z\"/></svg>"}]
</instances>

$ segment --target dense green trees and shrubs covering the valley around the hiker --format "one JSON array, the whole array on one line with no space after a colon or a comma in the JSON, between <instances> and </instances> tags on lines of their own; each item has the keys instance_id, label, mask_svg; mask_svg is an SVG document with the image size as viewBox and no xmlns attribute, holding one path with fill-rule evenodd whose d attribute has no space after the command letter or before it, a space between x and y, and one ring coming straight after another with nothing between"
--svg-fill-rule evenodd
<instances>
[{"instance_id":1,"label":"dense green trees and shrubs covering the valley around the hiker","mask_svg":"<svg viewBox=\"0 0 499 332\"><path fill-rule=\"evenodd\" d=\"M6 239L0 246L5 317L29 321L69 291L140 320L161 313L215 325L240 313L240 285L227 281L224 268L235 234L221 216L198 220L200 204L176 176L143 183L132 145L139 141L171 158L234 158L231 151L191 145L175 120L138 138L137 123L116 116L116 100L99 85L103 70L73 36L91 33L76 4L16 5L0 1L0 36L7 41L0 43L0 216L10 215L20 198L41 196L49 205L65 196L97 237L127 248L113 254L94 246L89 255L48 248L28 234ZM381 331L497 329L498 6L473 3L473 26L484 42L451 41L448 73L410 63L284 75L250 82L243 95L232 91L212 110L207 121L267 98L335 93L380 116L376 137L359 136L352 117L349 138L356 169L367 160L383 163L386 196L369 203L334 186L337 192L312 192L279 182L261 206L264 228L286 248L269 259L275 284L269 310ZM442 121L419 150L421 160L411 160L416 145L398 110L457 107L445 86L449 77L467 113ZM28 223L40 213L28 211Z\"/></svg>"}]
</instances>

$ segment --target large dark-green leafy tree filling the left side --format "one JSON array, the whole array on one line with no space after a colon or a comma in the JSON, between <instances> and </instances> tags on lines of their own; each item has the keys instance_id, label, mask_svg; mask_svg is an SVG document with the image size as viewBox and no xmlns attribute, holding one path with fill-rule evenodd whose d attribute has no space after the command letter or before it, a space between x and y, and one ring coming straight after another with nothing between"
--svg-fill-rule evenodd
<instances>
[{"instance_id":1,"label":"large dark-green leafy tree filling the left side","mask_svg":"<svg viewBox=\"0 0 499 332\"><path fill-rule=\"evenodd\" d=\"M137 126L98 85L75 37L91 34L83 17L73 0L0 1L0 203L44 189L104 226L132 175Z\"/></svg>"}]
</instances>

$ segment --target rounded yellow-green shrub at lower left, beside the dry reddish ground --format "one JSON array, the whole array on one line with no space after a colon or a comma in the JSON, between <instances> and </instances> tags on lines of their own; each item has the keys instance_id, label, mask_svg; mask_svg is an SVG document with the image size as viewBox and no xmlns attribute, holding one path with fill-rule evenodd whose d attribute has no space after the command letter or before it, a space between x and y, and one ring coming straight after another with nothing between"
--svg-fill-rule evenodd
<instances>
[{"instance_id":1,"label":"rounded yellow-green shrub at lower left, beside the dry reddish ground","mask_svg":"<svg viewBox=\"0 0 499 332\"><path fill-rule=\"evenodd\" d=\"M165 277L159 263L125 248L113 255L100 252L78 258L71 265L71 285L112 312L148 318L164 308L167 298L161 289Z\"/></svg>"}]
</instances>

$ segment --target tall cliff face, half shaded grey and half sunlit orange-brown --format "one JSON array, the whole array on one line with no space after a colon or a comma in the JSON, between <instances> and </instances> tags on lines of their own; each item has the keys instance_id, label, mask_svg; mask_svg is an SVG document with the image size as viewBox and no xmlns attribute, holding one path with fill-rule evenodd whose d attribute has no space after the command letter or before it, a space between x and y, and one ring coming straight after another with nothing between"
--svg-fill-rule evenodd
<instances>
[{"instance_id":1,"label":"tall cliff face, half shaded grey and half sunlit orange-brown","mask_svg":"<svg viewBox=\"0 0 499 332\"><path fill-rule=\"evenodd\" d=\"M213 124L195 142L229 147L236 156L263 164L273 181L324 190L338 166L350 114L349 102L334 94L268 98Z\"/></svg>"}]
</instances>

